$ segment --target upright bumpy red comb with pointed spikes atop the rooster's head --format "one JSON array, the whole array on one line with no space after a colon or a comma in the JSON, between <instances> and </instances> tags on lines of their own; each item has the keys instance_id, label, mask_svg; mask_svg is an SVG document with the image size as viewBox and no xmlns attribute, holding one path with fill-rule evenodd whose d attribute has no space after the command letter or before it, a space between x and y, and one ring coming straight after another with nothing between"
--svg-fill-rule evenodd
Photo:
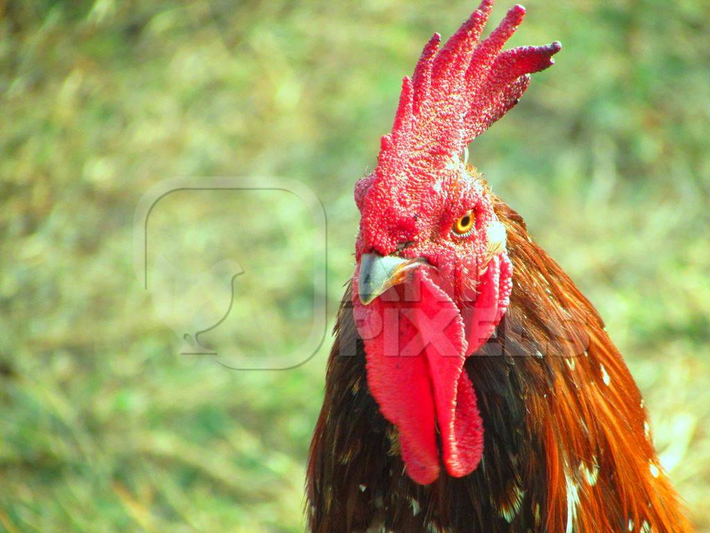
<instances>
[{"instance_id":1,"label":"upright bumpy red comb with pointed spikes atop the rooster's head","mask_svg":"<svg viewBox=\"0 0 710 533\"><path fill-rule=\"evenodd\" d=\"M554 63L558 42L501 52L523 21L520 5L479 42L492 6L482 1L441 50L438 33L425 45L412 79L402 82L392 133L382 137L376 181L435 176L518 103L530 73Z\"/></svg>"}]
</instances>

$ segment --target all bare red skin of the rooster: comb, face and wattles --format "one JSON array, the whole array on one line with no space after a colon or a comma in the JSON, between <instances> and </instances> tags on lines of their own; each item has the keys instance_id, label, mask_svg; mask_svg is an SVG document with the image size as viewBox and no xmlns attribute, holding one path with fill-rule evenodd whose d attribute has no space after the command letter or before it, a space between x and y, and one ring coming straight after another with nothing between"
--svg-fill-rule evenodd
<instances>
[{"instance_id":1,"label":"all bare red skin of the rooster: comb, face and wattles","mask_svg":"<svg viewBox=\"0 0 710 533\"><path fill-rule=\"evenodd\" d=\"M488 38L484 0L442 50L435 34L412 79L405 77L392 133L383 136L378 166L355 188L361 212L356 259L362 254L423 257L405 284L354 313L364 339L368 386L399 432L408 475L427 484L439 475L439 443L449 475L481 461L483 422L466 372L466 357L491 337L508 307L512 267L506 252L488 255L486 228L496 222L488 191L458 154L518 102L530 72L552 65L559 43L501 52L523 20L515 6ZM474 210L471 235L452 235ZM357 288L359 266L354 276Z\"/></svg>"}]
</instances>

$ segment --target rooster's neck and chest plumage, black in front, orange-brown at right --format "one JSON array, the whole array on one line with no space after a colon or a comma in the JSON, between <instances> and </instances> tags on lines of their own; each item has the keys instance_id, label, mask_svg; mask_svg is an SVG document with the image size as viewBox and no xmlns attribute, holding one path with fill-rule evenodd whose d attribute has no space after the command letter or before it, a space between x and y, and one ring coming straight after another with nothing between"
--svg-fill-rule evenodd
<instances>
[{"instance_id":1,"label":"rooster's neck and chest plumage, black in front, orange-brown at right","mask_svg":"<svg viewBox=\"0 0 710 533\"><path fill-rule=\"evenodd\" d=\"M417 485L368 392L350 290L339 311L307 471L312 532L692 531L657 466L638 388L601 318L503 203L515 286L466 361L484 455Z\"/></svg>"}]
</instances>

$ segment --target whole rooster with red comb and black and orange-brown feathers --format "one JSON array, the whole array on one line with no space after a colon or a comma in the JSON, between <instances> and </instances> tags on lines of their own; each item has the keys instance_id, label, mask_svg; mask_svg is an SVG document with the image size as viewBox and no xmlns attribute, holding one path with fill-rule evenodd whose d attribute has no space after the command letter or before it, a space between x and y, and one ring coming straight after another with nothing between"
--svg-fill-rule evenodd
<instances>
[{"instance_id":1,"label":"whole rooster with red comb and black and orange-brown feathers","mask_svg":"<svg viewBox=\"0 0 710 533\"><path fill-rule=\"evenodd\" d=\"M425 45L355 185L310 531L689 532L601 318L466 161L561 48L502 50L522 6L479 40L491 4Z\"/></svg>"}]
</instances>

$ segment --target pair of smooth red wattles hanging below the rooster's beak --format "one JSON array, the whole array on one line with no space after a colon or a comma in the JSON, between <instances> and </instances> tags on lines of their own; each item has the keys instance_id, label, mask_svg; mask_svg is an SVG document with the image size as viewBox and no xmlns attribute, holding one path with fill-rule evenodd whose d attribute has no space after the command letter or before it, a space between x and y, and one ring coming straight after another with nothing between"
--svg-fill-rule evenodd
<instances>
[{"instance_id":1,"label":"pair of smooth red wattles hanging below the rooster's beak","mask_svg":"<svg viewBox=\"0 0 710 533\"><path fill-rule=\"evenodd\" d=\"M368 387L398 429L410 478L427 484L439 476L437 426L448 473L470 473L483 453L483 424L463 370L466 335L454 301L425 269L368 306L357 289L353 301Z\"/></svg>"}]
</instances>

